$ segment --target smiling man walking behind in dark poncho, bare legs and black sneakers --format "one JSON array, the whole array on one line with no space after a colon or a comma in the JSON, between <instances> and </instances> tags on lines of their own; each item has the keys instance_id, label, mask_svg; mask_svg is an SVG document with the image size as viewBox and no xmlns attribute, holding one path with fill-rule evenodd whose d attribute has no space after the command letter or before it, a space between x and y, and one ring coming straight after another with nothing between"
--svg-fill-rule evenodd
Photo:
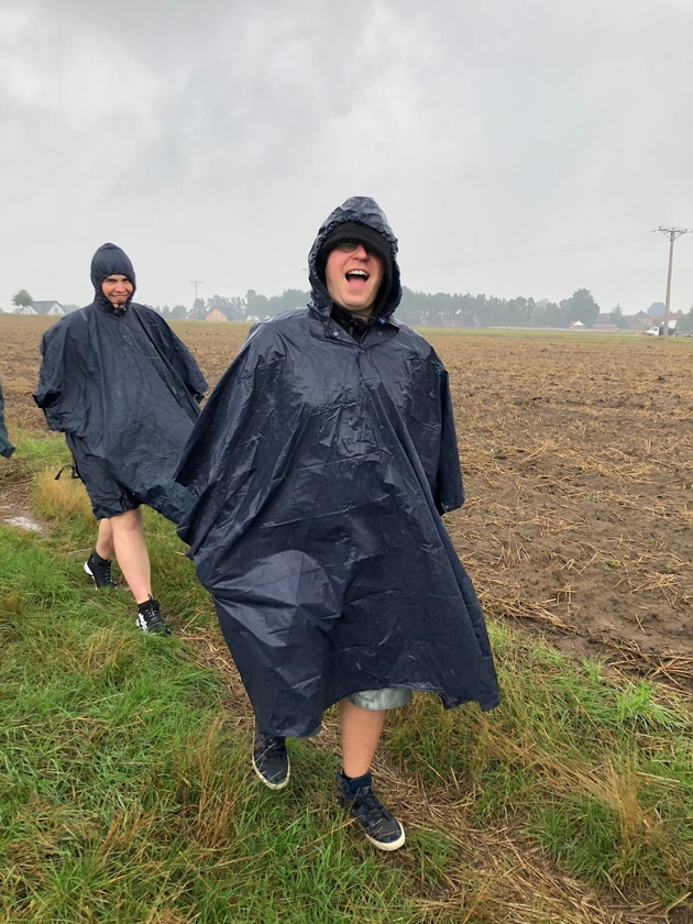
<instances>
[{"instance_id":1,"label":"smiling man walking behind in dark poncho, bare legs and black sneakers","mask_svg":"<svg viewBox=\"0 0 693 924\"><path fill-rule=\"evenodd\" d=\"M65 433L99 521L85 571L97 588L114 586L114 556L138 604L138 626L166 632L140 505L175 524L189 510L193 497L173 475L207 383L166 321L132 301L134 270L116 244L96 252L91 283L94 302L43 337L34 399L48 427Z\"/></svg>"}]
</instances>

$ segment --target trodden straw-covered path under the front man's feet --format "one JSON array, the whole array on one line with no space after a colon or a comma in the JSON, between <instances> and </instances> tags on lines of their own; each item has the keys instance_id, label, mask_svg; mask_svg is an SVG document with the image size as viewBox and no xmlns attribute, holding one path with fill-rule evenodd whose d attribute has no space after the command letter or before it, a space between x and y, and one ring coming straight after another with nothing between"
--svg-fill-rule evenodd
<instances>
[{"instance_id":1,"label":"trodden straw-covered path under the front man's feet","mask_svg":"<svg viewBox=\"0 0 693 924\"><path fill-rule=\"evenodd\" d=\"M223 676L228 721L248 736L250 760L252 710L223 638L213 629L184 630L182 637L200 666ZM326 772L331 772L332 766L337 769L339 729L333 717L326 717L322 732L310 739L310 746L326 754ZM427 882L426 870L415 868L406 851L388 856L403 875L420 880L421 922L684 924L684 917L671 916L656 901L597 895L543 858L521 833L519 822L472 827L465 815L474 794L465 790L463 781L458 787L424 787L416 774L407 773L382 752L374 771L380 791L387 793L391 807L409 829L442 832L454 845L446 869L436 871L435 886Z\"/></svg>"}]
</instances>

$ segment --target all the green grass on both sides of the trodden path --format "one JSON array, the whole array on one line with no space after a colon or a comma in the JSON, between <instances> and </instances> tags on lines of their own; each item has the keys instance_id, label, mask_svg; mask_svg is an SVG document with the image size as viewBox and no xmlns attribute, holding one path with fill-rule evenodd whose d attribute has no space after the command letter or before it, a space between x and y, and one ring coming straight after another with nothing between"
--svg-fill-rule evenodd
<instances>
[{"instance_id":1,"label":"all the green grass on both sides of the trodden path","mask_svg":"<svg viewBox=\"0 0 693 924\"><path fill-rule=\"evenodd\" d=\"M338 758L320 739L289 743L289 790L262 789L224 674L179 637L138 632L124 590L85 581L84 490L50 484L62 442L18 442L13 463L53 529L0 527L0 921L518 920L503 891L517 858L501 857L496 882L492 855L468 846L475 831L512 832L585 889L662 908L684 894L693 759L680 698L493 625L497 710L417 696L388 719L393 772L450 807L430 815L411 796L407 847L380 855L334 805ZM145 520L165 613L216 631L175 531ZM557 920L542 901L532 920Z\"/></svg>"}]
</instances>

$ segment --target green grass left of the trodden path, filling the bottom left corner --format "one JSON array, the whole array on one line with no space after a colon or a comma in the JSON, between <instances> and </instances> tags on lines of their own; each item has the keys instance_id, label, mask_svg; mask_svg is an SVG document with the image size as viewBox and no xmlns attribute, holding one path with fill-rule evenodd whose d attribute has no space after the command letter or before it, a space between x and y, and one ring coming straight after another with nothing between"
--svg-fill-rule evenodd
<instances>
[{"instance_id":1,"label":"green grass left of the trodden path, filling the bottom left corner","mask_svg":"<svg viewBox=\"0 0 693 924\"><path fill-rule=\"evenodd\" d=\"M261 790L216 672L136 632L124 593L95 597L41 540L0 541L4 920L411 920L396 868L354 850L323 760L286 799Z\"/></svg>"}]
</instances>

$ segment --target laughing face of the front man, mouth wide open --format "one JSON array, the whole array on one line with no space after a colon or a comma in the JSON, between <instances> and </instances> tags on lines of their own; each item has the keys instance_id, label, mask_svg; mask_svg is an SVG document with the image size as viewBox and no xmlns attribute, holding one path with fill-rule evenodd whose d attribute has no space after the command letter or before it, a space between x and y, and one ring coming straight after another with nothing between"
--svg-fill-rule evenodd
<instances>
[{"instance_id":1,"label":"laughing face of the front man, mouth wide open","mask_svg":"<svg viewBox=\"0 0 693 924\"><path fill-rule=\"evenodd\" d=\"M354 315L370 315L383 282L383 261L361 242L344 241L330 251L324 266L332 301Z\"/></svg>"}]
</instances>

